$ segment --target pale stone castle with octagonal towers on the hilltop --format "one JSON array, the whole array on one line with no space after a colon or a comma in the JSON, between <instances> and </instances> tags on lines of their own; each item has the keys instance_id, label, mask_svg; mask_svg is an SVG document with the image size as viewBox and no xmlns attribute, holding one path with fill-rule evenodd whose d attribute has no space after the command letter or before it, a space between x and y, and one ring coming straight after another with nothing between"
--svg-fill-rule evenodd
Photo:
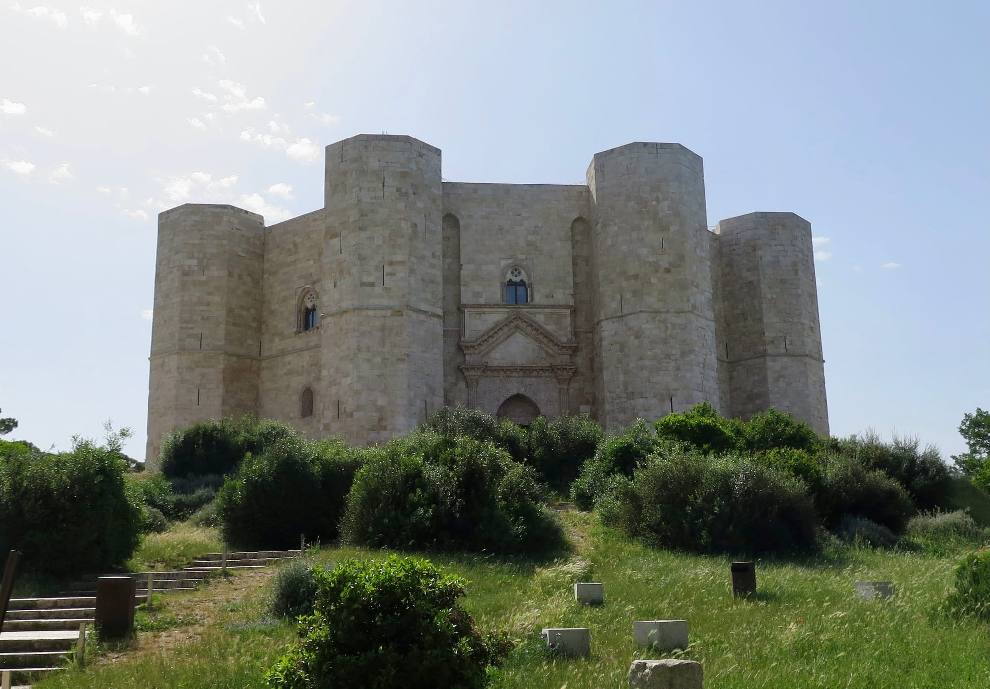
<instances>
[{"instance_id":1,"label":"pale stone castle with octagonal towers on the hilltop","mask_svg":"<svg viewBox=\"0 0 990 689\"><path fill-rule=\"evenodd\" d=\"M380 443L442 405L615 430L708 400L828 433L811 226L710 231L687 148L596 153L576 185L448 182L406 136L326 153L312 213L158 216L149 466L165 433L247 412Z\"/></svg>"}]
</instances>

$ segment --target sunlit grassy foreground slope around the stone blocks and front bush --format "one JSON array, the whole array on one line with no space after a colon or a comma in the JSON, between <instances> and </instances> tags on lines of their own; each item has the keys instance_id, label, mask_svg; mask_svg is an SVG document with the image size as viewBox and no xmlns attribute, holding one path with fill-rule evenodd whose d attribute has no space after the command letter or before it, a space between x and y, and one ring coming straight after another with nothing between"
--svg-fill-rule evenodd
<instances>
[{"instance_id":1,"label":"sunlit grassy foreground slope around the stone blocks and front bush","mask_svg":"<svg viewBox=\"0 0 990 689\"><path fill-rule=\"evenodd\" d=\"M567 560L432 556L471 581L465 605L483 631L506 630L518 640L493 679L496 689L625 689L630 662L657 657L632 642L633 621L651 619L688 621L690 647L674 654L701 661L706 686L719 689L990 686L987 626L938 614L955 557L851 549L806 561L761 560L758 595L736 600L728 558L648 548L580 513L560 518L574 543ZM380 554L337 547L319 557L330 564ZM291 623L266 612L273 573L164 595L167 607L156 613L162 629L140 634L135 650L37 686L263 686L264 671L295 640ZM571 584L579 580L604 582L605 605L575 604ZM892 580L898 594L859 603L856 580ZM172 626L171 620L188 624ZM591 656L547 655L537 636L545 626L589 628Z\"/></svg>"}]
</instances>

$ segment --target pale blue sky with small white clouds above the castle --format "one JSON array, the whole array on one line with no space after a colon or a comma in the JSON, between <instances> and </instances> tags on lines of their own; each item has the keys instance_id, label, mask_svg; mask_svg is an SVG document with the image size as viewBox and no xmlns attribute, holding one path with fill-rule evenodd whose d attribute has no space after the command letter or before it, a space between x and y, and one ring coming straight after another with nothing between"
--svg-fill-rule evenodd
<instances>
[{"instance_id":1,"label":"pale blue sky with small white clouds above the castle","mask_svg":"<svg viewBox=\"0 0 990 689\"><path fill-rule=\"evenodd\" d=\"M965 449L990 408L990 4L0 0L0 408L145 452L156 215L322 207L323 148L568 184L704 158L709 225L812 224L832 434ZM4 4L6 3L6 4Z\"/></svg>"}]
</instances>

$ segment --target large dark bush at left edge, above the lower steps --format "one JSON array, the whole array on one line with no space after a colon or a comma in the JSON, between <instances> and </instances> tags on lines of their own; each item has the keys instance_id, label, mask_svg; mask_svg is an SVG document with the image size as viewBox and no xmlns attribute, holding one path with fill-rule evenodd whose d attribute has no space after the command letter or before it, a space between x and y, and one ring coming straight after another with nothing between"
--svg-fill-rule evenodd
<instances>
[{"instance_id":1,"label":"large dark bush at left edge, above the lower steps","mask_svg":"<svg viewBox=\"0 0 990 689\"><path fill-rule=\"evenodd\" d=\"M76 438L59 453L4 443L0 552L17 548L26 569L56 575L123 565L138 547L143 515L125 484L121 440Z\"/></svg>"}]
</instances>

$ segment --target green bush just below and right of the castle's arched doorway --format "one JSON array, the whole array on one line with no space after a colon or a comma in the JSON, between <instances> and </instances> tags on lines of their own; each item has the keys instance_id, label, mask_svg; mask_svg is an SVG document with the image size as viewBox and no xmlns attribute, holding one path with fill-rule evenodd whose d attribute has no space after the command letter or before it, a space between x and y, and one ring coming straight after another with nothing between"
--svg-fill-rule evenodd
<instances>
[{"instance_id":1,"label":"green bush just below and right of the castle's arched doorway","mask_svg":"<svg viewBox=\"0 0 990 689\"><path fill-rule=\"evenodd\" d=\"M567 490L587 459L605 437L587 414L540 417L530 426L530 460L537 473L557 490Z\"/></svg>"}]
</instances>

